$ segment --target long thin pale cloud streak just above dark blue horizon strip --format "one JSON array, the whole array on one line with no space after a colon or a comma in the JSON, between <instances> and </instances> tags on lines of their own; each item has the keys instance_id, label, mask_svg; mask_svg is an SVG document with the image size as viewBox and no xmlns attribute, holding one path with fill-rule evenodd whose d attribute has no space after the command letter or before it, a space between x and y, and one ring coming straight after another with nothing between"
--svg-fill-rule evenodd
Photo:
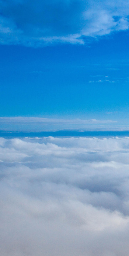
<instances>
[{"instance_id":1,"label":"long thin pale cloud streak just above dark blue horizon strip","mask_svg":"<svg viewBox=\"0 0 129 256\"><path fill-rule=\"evenodd\" d=\"M0 117L0 129L4 131L55 131L61 129L93 129L100 125L114 124L111 119L56 119L43 117ZM95 127L94 127L95 126Z\"/></svg>"}]
</instances>

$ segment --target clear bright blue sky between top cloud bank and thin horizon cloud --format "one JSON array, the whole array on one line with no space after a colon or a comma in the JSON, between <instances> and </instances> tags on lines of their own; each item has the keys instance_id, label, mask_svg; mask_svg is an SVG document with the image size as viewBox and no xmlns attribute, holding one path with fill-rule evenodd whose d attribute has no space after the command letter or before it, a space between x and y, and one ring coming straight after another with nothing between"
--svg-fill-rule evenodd
<instances>
[{"instance_id":1,"label":"clear bright blue sky between top cloud bank and thin horizon cloud","mask_svg":"<svg viewBox=\"0 0 129 256\"><path fill-rule=\"evenodd\" d=\"M89 46L1 45L1 116L128 111L128 42L119 32Z\"/></svg>"}]
</instances>

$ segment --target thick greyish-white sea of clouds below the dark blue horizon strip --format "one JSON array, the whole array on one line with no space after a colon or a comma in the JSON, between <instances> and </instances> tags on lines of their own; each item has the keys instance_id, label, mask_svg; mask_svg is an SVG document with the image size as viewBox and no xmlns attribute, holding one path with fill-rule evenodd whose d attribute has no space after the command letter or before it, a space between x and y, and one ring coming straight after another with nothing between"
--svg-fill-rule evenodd
<instances>
[{"instance_id":1,"label":"thick greyish-white sea of clouds below the dark blue horizon strip","mask_svg":"<svg viewBox=\"0 0 129 256\"><path fill-rule=\"evenodd\" d=\"M0 255L128 256L129 137L0 138Z\"/></svg>"}]
</instances>

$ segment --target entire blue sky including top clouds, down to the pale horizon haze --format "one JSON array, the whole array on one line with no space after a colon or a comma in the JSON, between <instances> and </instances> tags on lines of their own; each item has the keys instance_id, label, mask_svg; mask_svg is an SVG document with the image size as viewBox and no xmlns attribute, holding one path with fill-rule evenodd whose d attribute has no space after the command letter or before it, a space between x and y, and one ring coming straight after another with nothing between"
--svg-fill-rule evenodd
<instances>
[{"instance_id":1,"label":"entire blue sky including top clouds, down to the pale horizon haze","mask_svg":"<svg viewBox=\"0 0 129 256\"><path fill-rule=\"evenodd\" d=\"M1 117L111 120L128 129L128 1L0 4Z\"/></svg>"}]
</instances>

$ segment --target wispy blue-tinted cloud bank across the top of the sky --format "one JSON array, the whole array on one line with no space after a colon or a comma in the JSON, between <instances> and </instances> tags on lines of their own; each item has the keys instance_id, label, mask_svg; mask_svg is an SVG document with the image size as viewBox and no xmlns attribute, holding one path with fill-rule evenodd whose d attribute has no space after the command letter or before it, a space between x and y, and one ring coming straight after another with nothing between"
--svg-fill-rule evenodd
<instances>
[{"instance_id":1,"label":"wispy blue-tinted cloud bank across the top of the sky","mask_svg":"<svg viewBox=\"0 0 129 256\"><path fill-rule=\"evenodd\" d=\"M43 46L129 28L127 0L1 0L0 43Z\"/></svg>"}]
</instances>

